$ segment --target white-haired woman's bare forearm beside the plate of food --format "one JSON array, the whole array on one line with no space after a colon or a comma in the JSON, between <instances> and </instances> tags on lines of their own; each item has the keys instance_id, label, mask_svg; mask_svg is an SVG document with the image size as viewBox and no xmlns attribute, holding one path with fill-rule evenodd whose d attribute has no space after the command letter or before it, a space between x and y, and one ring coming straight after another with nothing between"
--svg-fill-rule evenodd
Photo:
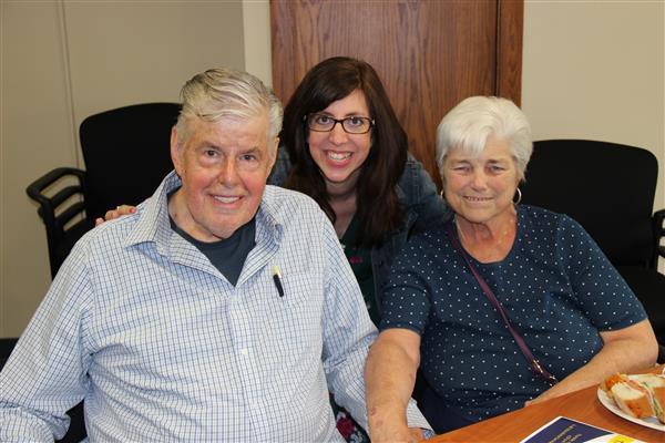
<instances>
[{"instance_id":1,"label":"white-haired woman's bare forearm beside the plate of food","mask_svg":"<svg viewBox=\"0 0 665 443\"><path fill-rule=\"evenodd\" d=\"M603 349L589 363L571 373L526 405L598 384L616 372L631 373L654 365L658 343L648 320L627 328L600 333Z\"/></svg>"}]
</instances>

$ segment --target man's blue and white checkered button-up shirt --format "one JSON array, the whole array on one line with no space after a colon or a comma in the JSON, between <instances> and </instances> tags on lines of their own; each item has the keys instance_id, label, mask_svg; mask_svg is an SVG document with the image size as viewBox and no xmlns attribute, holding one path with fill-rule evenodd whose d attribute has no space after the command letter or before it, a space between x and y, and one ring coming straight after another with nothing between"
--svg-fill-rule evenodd
<instances>
[{"instance_id":1,"label":"man's blue and white checkered button-up shirt","mask_svg":"<svg viewBox=\"0 0 665 443\"><path fill-rule=\"evenodd\" d=\"M62 436L81 400L90 441L342 441L328 390L367 427L376 328L324 213L267 186L234 287L171 229L180 185L76 244L0 374L0 441Z\"/></svg>"}]
</instances>

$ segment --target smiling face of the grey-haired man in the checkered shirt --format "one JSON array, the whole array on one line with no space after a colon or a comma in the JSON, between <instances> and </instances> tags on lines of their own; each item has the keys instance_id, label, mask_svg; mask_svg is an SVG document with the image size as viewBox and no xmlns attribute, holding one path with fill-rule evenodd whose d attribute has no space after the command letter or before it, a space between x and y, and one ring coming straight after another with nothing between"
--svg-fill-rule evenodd
<instances>
[{"instance_id":1,"label":"smiling face of the grey-haired man in the checkered shirt","mask_svg":"<svg viewBox=\"0 0 665 443\"><path fill-rule=\"evenodd\" d=\"M182 146L175 128L171 134L171 157L183 182L168 204L171 216L197 240L228 238L258 210L278 138L268 140L267 114L188 124Z\"/></svg>"}]
</instances>

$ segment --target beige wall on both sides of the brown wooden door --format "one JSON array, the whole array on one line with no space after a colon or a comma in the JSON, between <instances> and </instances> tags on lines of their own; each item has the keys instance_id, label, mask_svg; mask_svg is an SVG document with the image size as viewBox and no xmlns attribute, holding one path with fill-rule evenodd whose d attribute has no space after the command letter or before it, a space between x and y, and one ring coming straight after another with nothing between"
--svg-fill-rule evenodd
<instances>
[{"instance_id":1,"label":"beige wall on both sides of the brown wooden door","mask_svg":"<svg viewBox=\"0 0 665 443\"><path fill-rule=\"evenodd\" d=\"M270 83L267 0L1 0L0 337L18 336L50 282L24 187L78 165L75 128L126 103L174 101L192 74L244 68ZM649 148L665 207L664 3L530 1L522 105L535 138ZM121 179L121 173L119 173Z\"/></svg>"}]
</instances>

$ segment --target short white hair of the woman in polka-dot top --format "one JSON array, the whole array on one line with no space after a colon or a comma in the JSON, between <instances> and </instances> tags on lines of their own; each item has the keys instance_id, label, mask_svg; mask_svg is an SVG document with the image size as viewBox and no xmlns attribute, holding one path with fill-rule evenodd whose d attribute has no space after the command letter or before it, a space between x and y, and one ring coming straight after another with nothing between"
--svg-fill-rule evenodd
<instances>
[{"instance_id":1,"label":"short white hair of the woman in polka-dot top","mask_svg":"<svg viewBox=\"0 0 665 443\"><path fill-rule=\"evenodd\" d=\"M510 100L471 96L454 106L437 128L437 165L443 177L443 162L450 150L479 156L489 137L508 142L520 179L524 178L533 143L524 113Z\"/></svg>"}]
</instances>

